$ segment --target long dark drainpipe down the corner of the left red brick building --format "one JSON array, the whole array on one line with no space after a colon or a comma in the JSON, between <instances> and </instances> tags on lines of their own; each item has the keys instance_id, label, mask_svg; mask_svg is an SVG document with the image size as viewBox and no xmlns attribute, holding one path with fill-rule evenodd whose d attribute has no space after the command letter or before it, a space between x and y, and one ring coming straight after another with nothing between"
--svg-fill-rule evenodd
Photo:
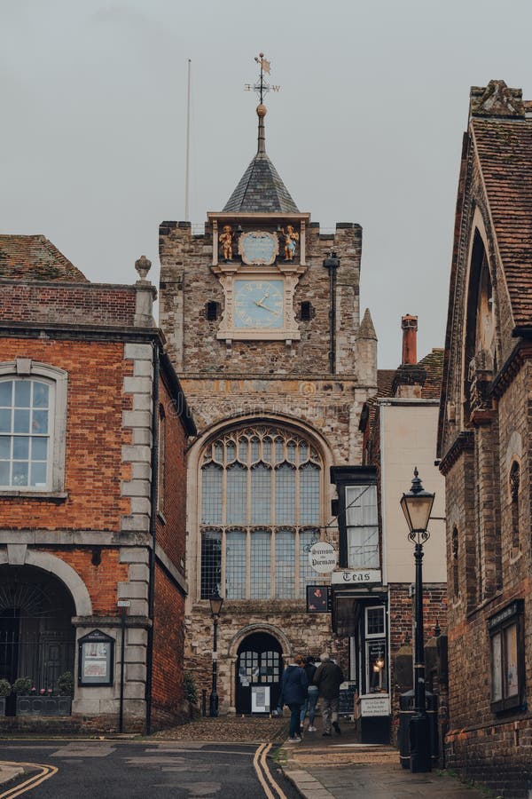
<instances>
[{"instance_id":1,"label":"long dark drainpipe down the corner of the left red brick building","mask_svg":"<svg viewBox=\"0 0 532 799\"><path fill-rule=\"evenodd\" d=\"M152 683L153 683L153 605L155 600L155 544L157 542L157 492L159 482L159 342L153 342L153 389L152 389L152 486L150 491L150 538L149 583L148 583L148 645L146 650L146 735L152 729Z\"/></svg>"}]
</instances>

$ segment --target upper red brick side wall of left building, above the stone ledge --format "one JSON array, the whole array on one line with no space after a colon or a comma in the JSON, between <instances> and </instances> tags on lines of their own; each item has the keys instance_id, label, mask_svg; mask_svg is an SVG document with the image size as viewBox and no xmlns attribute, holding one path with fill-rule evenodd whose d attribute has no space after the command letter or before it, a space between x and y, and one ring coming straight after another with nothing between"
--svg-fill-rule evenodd
<instances>
[{"instance_id":1,"label":"upper red brick side wall of left building, above the stone ledge","mask_svg":"<svg viewBox=\"0 0 532 799\"><path fill-rule=\"evenodd\" d=\"M170 399L168 389L160 382L160 405L164 409L165 417L165 446L164 446L164 492L160 510L162 510L165 524L162 519L157 519L157 540L168 558L184 574L185 560L185 526L186 526L186 469L184 463L184 450L186 447L186 434L183 423L178 415L174 401ZM159 487L161 490L161 487Z\"/></svg>"}]
</instances>

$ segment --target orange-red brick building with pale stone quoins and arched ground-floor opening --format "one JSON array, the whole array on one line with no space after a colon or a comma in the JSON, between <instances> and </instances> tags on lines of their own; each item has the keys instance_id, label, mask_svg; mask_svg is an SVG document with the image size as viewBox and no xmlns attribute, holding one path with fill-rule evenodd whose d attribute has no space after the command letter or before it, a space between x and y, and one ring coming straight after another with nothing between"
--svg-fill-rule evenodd
<instances>
[{"instance_id":1,"label":"orange-red brick building with pale stone quoins and arched ground-floor opening","mask_svg":"<svg viewBox=\"0 0 532 799\"><path fill-rule=\"evenodd\" d=\"M184 710L195 429L149 265L131 286L91 283L43 236L0 236L0 677L37 694L10 715L57 712L40 692L67 672L74 723L143 729Z\"/></svg>"}]
</instances>

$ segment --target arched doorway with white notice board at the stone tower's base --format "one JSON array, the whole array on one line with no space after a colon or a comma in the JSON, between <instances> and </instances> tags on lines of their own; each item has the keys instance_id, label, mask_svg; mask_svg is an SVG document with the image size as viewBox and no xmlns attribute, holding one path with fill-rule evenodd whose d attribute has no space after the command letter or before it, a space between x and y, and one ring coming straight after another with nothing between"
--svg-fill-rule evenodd
<instances>
[{"instance_id":1,"label":"arched doorway with white notice board at the stone tower's base","mask_svg":"<svg viewBox=\"0 0 532 799\"><path fill-rule=\"evenodd\" d=\"M237 653L236 712L270 713L277 708L283 671L282 646L270 633L246 636Z\"/></svg>"}]
</instances>

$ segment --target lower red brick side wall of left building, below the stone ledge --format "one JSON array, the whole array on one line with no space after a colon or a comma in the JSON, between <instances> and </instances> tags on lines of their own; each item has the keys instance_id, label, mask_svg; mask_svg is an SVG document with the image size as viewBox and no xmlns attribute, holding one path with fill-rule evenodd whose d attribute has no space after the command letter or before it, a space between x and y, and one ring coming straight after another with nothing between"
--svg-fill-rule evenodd
<instances>
[{"instance_id":1,"label":"lower red brick side wall of left building, below the stone ledge","mask_svg":"<svg viewBox=\"0 0 532 799\"><path fill-rule=\"evenodd\" d=\"M155 569L153 623L153 726L184 712L184 596L160 566Z\"/></svg>"}]
</instances>

